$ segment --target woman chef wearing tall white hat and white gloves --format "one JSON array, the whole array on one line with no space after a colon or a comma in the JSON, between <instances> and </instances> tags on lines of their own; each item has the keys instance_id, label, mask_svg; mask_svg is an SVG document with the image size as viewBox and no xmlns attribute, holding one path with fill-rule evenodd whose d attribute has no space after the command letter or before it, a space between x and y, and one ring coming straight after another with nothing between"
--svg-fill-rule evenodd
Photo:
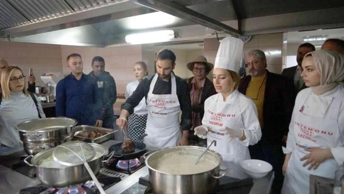
<instances>
[{"instance_id":1,"label":"woman chef wearing tall white hat and white gloves","mask_svg":"<svg viewBox=\"0 0 344 194\"><path fill-rule=\"evenodd\" d=\"M243 45L233 37L221 41L213 71L218 94L205 101L202 125L195 128L195 135L207 137L208 145L216 140L216 146L210 148L220 153L223 161L237 164L250 159L248 145L261 137L256 105L237 90Z\"/></svg>"}]
</instances>

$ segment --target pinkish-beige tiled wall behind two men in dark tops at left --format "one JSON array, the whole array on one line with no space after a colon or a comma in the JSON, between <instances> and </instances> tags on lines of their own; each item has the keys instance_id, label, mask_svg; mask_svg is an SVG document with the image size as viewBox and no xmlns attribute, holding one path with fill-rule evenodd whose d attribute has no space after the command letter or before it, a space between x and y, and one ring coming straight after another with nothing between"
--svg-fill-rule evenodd
<instances>
[{"instance_id":1,"label":"pinkish-beige tiled wall behind two men in dark tops at left","mask_svg":"<svg viewBox=\"0 0 344 194\"><path fill-rule=\"evenodd\" d=\"M83 58L84 73L92 71L92 59L101 56L105 60L105 71L108 71L116 81L117 93L124 94L126 85L135 80L132 67L137 61L142 61L141 45L130 45L123 47L94 48L61 46L63 73L69 74L67 67L67 56L78 53Z\"/></svg>"}]
</instances>

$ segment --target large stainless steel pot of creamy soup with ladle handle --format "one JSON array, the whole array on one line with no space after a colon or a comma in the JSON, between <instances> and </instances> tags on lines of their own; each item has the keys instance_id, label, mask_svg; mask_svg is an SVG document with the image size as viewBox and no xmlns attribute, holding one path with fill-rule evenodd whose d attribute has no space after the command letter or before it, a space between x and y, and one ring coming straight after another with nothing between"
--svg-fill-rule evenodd
<instances>
[{"instance_id":1,"label":"large stainless steel pot of creamy soup with ladle handle","mask_svg":"<svg viewBox=\"0 0 344 194\"><path fill-rule=\"evenodd\" d=\"M214 164L211 170L197 172L195 174L169 174L157 170L158 165L164 165L161 160L164 155L171 153L182 153L185 156L199 156L205 150L198 146L178 146L159 150L153 153L146 153L146 165L149 168L149 182L155 194L209 194L214 193L218 185L218 179L227 172L219 176L222 156L212 150L205 152L203 157L208 158ZM149 155L148 155L149 154ZM148 155L148 157L147 157ZM171 158L173 160L173 158ZM160 164L159 164L160 163ZM191 163L193 164L193 163ZM183 164L176 164L180 167Z\"/></svg>"}]
</instances>

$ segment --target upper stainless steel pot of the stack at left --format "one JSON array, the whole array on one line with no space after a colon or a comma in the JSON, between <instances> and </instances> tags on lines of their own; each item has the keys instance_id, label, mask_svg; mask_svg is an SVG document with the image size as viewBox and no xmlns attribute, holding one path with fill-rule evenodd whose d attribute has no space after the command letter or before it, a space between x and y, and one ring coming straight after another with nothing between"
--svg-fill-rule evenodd
<instances>
[{"instance_id":1,"label":"upper stainless steel pot of the stack at left","mask_svg":"<svg viewBox=\"0 0 344 194\"><path fill-rule=\"evenodd\" d=\"M25 121L17 126L20 140L40 142L63 139L75 133L77 121L66 117L53 117Z\"/></svg>"}]
</instances>

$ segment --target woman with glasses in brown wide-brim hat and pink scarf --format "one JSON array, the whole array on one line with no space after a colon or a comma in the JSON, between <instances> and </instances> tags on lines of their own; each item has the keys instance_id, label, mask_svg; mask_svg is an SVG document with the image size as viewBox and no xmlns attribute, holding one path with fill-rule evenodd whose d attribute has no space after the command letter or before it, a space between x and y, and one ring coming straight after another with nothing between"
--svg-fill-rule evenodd
<instances>
[{"instance_id":1,"label":"woman with glasses in brown wide-brim hat and pink scarf","mask_svg":"<svg viewBox=\"0 0 344 194\"><path fill-rule=\"evenodd\" d=\"M204 115L204 101L210 96L216 94L214 84L206 75L214 68L203 56L198 56L193 61L187 63L187 69L192 71L194 76L187 79L190 88L191 105L192 105L192 129L189 134L189 144L196 143L200 146L206 146L206 139L201 139L194 135L194 129L202 125Z\"/></svg>"}]
</instances>

